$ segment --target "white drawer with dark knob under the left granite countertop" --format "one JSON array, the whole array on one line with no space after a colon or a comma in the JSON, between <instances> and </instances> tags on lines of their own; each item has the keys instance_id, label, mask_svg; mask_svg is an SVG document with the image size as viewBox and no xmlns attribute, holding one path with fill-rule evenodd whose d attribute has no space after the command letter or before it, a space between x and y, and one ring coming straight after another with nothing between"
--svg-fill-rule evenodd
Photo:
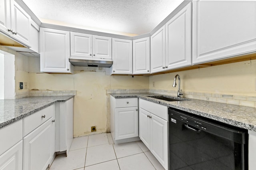
<instances>
[{"instance_id":1,"label":"white drawer with dark knob under the left granite countertop","mask_svg":"<svg viewBox=\"0 0 256 170\"><path fill-rule=\"evenodd\" d=\"M34 129L42 125L48 119L53 117L54 114L55 105L51 105L49 107L42 109L41 111L38 111L32 115L29 115L28 117L25 117L23 122L23 136L26 136Z\"/></svg>"}]
</instances>

